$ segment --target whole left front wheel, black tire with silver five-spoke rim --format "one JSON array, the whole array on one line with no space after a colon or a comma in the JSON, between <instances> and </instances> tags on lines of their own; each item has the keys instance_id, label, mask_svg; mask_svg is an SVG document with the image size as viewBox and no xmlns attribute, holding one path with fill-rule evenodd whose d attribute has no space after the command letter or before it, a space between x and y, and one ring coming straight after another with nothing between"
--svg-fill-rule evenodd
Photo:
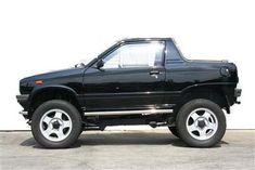
<instances>
[{"instance_id":1,"label":"whole left front wheel, black tire with silver five-spoke rim","mask_svg":"<svg viewBox=\"0 0 255 170\"><path fill-rule=\"evenodd\" d=\"M77 141L81 127L81 117L77 108L61 100L44 102L31 117L35 140L48 148L72 146Z\"/></svg>"}]
</instances>

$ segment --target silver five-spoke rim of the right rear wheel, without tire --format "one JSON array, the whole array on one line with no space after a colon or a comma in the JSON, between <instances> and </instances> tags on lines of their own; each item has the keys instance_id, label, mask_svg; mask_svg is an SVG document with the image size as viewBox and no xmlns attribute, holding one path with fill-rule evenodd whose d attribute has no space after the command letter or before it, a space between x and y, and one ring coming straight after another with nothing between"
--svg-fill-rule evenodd
<instances>
[{"instance_id":1,"label":"silver five-spoke rim of the right rear wheel, without tire","mask_svg":"<svg viewBox=\"0 0 255 170\"><path fill-rule=\"evenodd\" d=\"M189 134L200 141L211 139L218 129L218 119L208 108L196 108L188 116L187 130Z\"/></svg>"}]
</instances>

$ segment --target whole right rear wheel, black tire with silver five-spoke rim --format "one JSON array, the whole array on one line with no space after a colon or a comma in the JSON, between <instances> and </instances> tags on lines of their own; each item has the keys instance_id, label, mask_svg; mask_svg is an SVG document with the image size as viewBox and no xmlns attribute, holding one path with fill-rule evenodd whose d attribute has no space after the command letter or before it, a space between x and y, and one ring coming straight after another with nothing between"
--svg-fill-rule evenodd
<instances>
[{"instance_id":1,"label":"whole right rear wheel, black tire with silver five-spoke rim","mask_svg":"<svg viewBox=\"0 0 255 170\"><path fill-rule=\"evenodd\" d=\"M192 147L212 147L226 132L226 117L220 107L208 100L193 100L177 115L180 138Z\"/></svg>"}]
</instances>

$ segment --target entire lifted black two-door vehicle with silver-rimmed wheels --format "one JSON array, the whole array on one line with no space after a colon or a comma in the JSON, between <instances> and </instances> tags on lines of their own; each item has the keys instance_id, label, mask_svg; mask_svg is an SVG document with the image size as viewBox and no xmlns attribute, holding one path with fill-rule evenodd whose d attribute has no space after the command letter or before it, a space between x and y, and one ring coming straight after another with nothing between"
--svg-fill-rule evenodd
<instances>
[{"instance_id":1,"label":"entire lifted black two-door vehicle with silver-rimmed wheels","mask_svg":"<svg viewBox=\"0 0 255 170\"><path fill-rule=\"evenodd\" d=\"M85 130L166 126L188 145L209 147L226 131L241 90L226 61L189 61L171 38L125 39L74 68L20 81L21 114L44 147L68 147Z\"/></svg>"}]
</instances>

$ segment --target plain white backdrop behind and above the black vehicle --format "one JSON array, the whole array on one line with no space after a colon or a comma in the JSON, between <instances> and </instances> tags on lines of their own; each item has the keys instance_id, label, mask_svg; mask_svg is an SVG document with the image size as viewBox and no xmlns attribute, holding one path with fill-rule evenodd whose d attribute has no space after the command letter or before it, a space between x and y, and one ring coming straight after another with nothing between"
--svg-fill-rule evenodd
<instances>
[{"instance_id":1,"label":"plain white backdrop behind and above the black vehicle","mask_svg":"<svg viewBox=\"0 0 255 170\"><path fill-rule=\"evenodd\" d=\"M234 62L243 93L228 128L254 129L254 9L252 0L1 1L0 130L28 129L17 114L20 79L91 60L131 37L174 37L188 58Z\"/></svg>"}]
</instances>

